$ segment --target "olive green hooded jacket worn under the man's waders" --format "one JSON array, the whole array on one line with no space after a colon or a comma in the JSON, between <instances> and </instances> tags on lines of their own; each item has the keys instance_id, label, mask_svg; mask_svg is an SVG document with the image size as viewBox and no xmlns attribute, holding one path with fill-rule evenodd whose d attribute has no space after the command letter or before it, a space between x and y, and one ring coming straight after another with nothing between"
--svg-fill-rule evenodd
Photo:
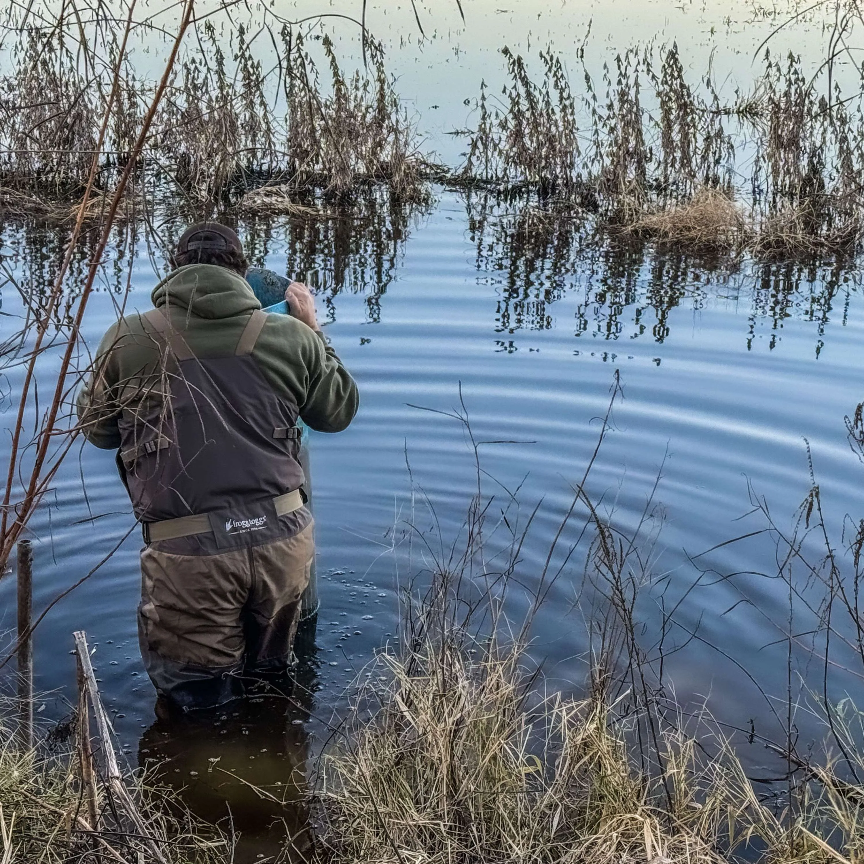
<instances>
[{"instance_id":1,"label":"olive green hooded jacket worn under the man's waders","mask_svg":"<svg viewBox=\"0 0 864 864\"><path fill-rule=\"evenodd\" d=\"M231 356L260 302L245 279L214 264L189 264L156 285L161 309L195 356ZM271 314L252 357L276 392L292 398L310 429L340 432L357 413L357 384L321 331L289 315ZM118 321L98 347L93 371L78 394L78 416L87 441L120 447L118 419L124 407L159 377L162 353L139 314Z\"/></svg>"}]
</instances>

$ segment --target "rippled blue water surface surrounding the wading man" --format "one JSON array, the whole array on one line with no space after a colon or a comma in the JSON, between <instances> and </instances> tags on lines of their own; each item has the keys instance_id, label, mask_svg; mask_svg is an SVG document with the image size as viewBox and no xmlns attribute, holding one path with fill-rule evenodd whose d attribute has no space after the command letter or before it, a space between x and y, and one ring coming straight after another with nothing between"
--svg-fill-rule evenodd
<instances>
[{"instance_id":1,"label":"rippled blue water surface surrounding the wading man","mask_svg":"<svg viewBox=\"0 0 864 864\"><path fill-rule=\"evenodd\" d=\"M293 272L298 265L293 257L289 265L289 256L297 236L276 226L266 264ZM843 427L843 416L861 398L864 306L852 276L827 300L826 280L835 276L821 270L781 267L766 276L743 265L721 278L669 257L646 254L639 264L632 253L599 251L559 263L554 272L543 262L533 272L519 271L493 232L480 238L472 230L465 201L454 194L441 194L402 236L396 245L384 244L393 266L384 268L390 281L383 294L372 279L373 246L346 247L342 291L328 285L326 268L319 270L321 315L330 319L327 334L359 381L362 407L348 431L314 435L311 444L321 615L317 651L302 672L308 692L295 704L254 703L227 712L204 735L200 727L154 721L135 629L141 543L136 530L121 542L132 522L113 454L77 449L51 505L32 525L37 608L120 543L38 631L37 687L54 694L46 700L48 713L66 710L74 678L71 634L84 629L98 645L98 676L130 761L167 755L169 766L177 766L168 779L191 784L197 806L212 815L224 808L226 790L213 791L227 777L223 770L288 785L286 763L303 767L308 748L327 734L332 711L344 704L346 684L378 646L397 638L399 591L428 564L416 548L409 560L408 524L430 537L440 530L445 543L458 533L475 482L464 430L412 405L454 410L461 386L478 439L523 442L482 449L496 480L511 488L522 482L524 511L543 498L520 566L528 584L569 505L569 483L581 478L594 449L596 418L606 409L616 370L624 398L588 486L614 506L618 524L632 526L662 466L658 502L665 519L655 572L668 574L670 595L699 578L688 556L758 527L735 521L749 509L748 483L766 496L781 524L791 524L809 487L805 438L835 522L844 512L860 512L864 469ZM5 236L13 248L23 241L21 233ZM136 257L130 273L128 296L106 286L92 297L91 348L115 320L118 303L127 310L149 307L156 276L148 257ZM21 311L20 296L5 285L4 338ZM46 359L47 376L50 365ZM7 374L16 391L19 371ZM9 425L10 412L5 416ZM421 495L412 499L406 459L434 518L417 503ZM505 497L491 482L487 492ZM582 524L581 516L575 519L571 539ZM770 574L773 555L772 545L759 539L715 550L700 562L722 574ZM584 612L574 608L580 588L575 563L543 607L532 647L563 687L584 674ZM7 629L14 625L13 592L12 580L0 583ZM742 597L748 602L739 603ZM650 630L651 603L644 613ZM688 632L703 640L670 660L679 696L708 698L723 719L746 725L753 718L767 730L767 703L735 662L782 696L785 646L766 646L780 637L785 614L784 586L766 577L708 580L697 588L677 613L678 640ZM748 759L766 759L753 749ZM254 816L247 830L264 829L270 809L242 787L231 794L238 819L244 807Z\"/></svg>"}]
</instances>

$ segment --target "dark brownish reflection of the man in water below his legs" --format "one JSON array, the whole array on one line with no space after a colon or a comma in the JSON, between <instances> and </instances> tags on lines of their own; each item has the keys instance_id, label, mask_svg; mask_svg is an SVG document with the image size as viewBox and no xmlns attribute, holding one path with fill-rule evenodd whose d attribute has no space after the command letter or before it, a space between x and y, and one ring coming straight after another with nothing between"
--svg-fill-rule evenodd
<instances>
[{"instance_id":1,"label":"dark brownish reflection of the man in water below his legs","mask_svg":"<svg viewBox=\"0 0 864 864\"><path fill-rule=\"evenodd\" d=\"M318 677L314 621L302 630L293 682L258 683L245 699L187 715L157 702L158 719L138 745L151 785L168 786L194 815L238 835L237 864L302 861L311 847L305 725Z\"/></svg>"}]
</instances>

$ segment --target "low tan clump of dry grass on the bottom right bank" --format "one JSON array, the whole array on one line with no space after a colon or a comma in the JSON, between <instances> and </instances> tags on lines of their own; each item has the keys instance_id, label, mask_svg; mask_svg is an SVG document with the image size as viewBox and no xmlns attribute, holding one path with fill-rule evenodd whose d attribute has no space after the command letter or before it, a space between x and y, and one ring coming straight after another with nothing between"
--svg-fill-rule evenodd
<instances>
[{"instance_id":1,"label":"low tan clump of dry grass on the bottom right bank","mask_svg":"<svg viewBox=\"0 0 864 864\"><path fill-rule=\"evenodd\" d=\"M626 696L543 695L517 646L439 637L378 659L380 707L326 757L327 861L857 860L864 789L831 767L773 809L706 722L666 725L650 774Z\"/></svg>"}]
</instances>

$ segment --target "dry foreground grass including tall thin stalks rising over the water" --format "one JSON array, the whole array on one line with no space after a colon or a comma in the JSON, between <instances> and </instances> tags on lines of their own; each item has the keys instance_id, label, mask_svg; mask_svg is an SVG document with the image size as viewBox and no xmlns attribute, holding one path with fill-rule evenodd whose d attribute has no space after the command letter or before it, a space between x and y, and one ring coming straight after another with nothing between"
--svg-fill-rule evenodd
<instances>
[{"instance_id":1,"label":"dry foreground grass including tall thin stalks rising over the water","mask_svg":"<svg viewBox=\"0 0 864 864\"><path fill-rule=\"evenodd\" d=\"M464 405L452 416L476 454ZM341 743L324 757L321 860L860 860L860 749L851 762L803 757L790 730L776 750L792 765L777 804L720 724L671 698L662 642L659 655L642 645L639 623L640 594L655 584L654 496L638 527L620 530L585 491L592 464L533 579L519 558L537 511L525 520L505 500L493 515L480 472L459 539L422 543L430 576L406 599L403 651L386 649L365 670ZM568 562L586 581L582 696L552 688L530 659L534 615ZM507 612L516 587L532 600L524 619ZM857 740L860 721L848 720Z\"/></svg>"}]
</instances>

